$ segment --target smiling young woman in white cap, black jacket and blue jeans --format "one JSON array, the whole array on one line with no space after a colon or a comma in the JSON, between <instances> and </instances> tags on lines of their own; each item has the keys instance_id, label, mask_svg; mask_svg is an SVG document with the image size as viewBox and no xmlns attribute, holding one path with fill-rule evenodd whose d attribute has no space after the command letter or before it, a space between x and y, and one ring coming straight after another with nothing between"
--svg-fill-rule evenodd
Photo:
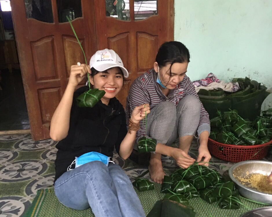
<instances>
[{"instance_id":1,"label":"smiling young woman in white cap, black jacket and blue jeans","mask_svg":"<svg viewBox=\"0 0 272 217\"><path fill-rule=\"evenodd\" d=\"M92 108L78 107L76 101L89 90L85 86L75 91L87 73L93 88L105 91ZM114 148L121 158L130 156L139 121L150 112L148 104L136 106L130 117L134 127L127 132L124 108L115 98L124 77L128 71L109 49L97 51L90 66L71 66L68 85L51 120L50 136L60 141L56 145L55 194L67 207L91 207L95 216L145 216L130 179L110 162Z\"/></svg>"}]
</instances>

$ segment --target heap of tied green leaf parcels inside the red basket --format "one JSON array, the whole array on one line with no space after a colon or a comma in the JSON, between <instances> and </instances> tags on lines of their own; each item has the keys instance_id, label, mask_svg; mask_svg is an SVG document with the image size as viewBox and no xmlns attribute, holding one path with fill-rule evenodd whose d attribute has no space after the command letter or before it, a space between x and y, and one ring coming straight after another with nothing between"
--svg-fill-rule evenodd
<instances>
[{"instance_id":1,"label":"heap of tied green leaf parcels inside the red basket","mask_svg":"<svg viewBox=\"0 0 272 217\"><path fill-rule=\"evenodd\" d=\"M272 109L263 111L254 121L246 121L235 109L217 115L210 120L212 140L229 145L260 145L272 138Z\"/></svg>"}]
</instances>

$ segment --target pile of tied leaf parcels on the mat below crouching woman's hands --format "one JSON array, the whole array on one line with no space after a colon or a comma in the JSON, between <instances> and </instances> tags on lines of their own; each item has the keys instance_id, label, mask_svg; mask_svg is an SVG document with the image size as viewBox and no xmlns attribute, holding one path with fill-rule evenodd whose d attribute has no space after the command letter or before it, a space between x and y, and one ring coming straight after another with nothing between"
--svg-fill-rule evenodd
<instances>
[{"instance_id":1,"label":"pile of tied leaf parcels on the mat below crouching woman's hands","mask_svg":"<svg viewBox=\"0 0 272 217\"><path fill-rule=\"evenodd\" d=\"M216 170L194 164L188 169L178 169L171 176L164 176L161 192L164 199L189 205L191 198L201 198L207 203L217 202L221 209L239 209L239 192L234 183L224 181Z\"/></svg>"}]
</instances>

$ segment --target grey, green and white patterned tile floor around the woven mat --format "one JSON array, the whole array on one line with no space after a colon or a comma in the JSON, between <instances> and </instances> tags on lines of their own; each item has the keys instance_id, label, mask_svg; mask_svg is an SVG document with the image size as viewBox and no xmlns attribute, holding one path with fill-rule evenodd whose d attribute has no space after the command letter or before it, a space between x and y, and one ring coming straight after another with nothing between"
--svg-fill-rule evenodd
<instances>
[{"instance_id":1,"label":"grey, green and white patterned tile floor around the woven mat","mask_svg":"<svg viewBox=\"0 0 272 217\"><path fill-rule=\"evenodd\" d=\"M23 216L37 190L53 184L55 146L56 142L51 139L33 141L30 134L0 136L0 217ZM194 140L190 149L194 158L197 147ZM131 179L147 170L131 160L122 160L117 154L113 160ZM174 160L168 157L163 157L162 162L169 171L177 169ZM212 158L210 167L224 173L232 164ZM149 173L145 177L150 178Z\"/></svg>"}]
</instances>

